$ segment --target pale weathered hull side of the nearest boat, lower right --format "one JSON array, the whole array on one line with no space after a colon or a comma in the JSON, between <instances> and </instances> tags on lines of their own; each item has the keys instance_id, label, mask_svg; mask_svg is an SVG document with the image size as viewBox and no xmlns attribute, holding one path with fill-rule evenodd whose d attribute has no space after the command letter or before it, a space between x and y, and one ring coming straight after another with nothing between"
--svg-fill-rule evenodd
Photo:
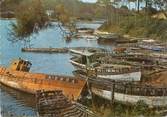
<instances>
[{"instance_id":1,"label":"pale weathered hull side of the nearest boat, lower right","mask_svg":"<svg viewBox=\"0 0 167 117\"><path fill-rule=\"evenodd\" d=\"M105 89L92 87L92 92L107 100L112 100L112 92ZM138 101L144 101L150 107L166 107L167 96L140 96L114 92L114 100L122 103L136 104Z\"/></svg>"}]
</instances>

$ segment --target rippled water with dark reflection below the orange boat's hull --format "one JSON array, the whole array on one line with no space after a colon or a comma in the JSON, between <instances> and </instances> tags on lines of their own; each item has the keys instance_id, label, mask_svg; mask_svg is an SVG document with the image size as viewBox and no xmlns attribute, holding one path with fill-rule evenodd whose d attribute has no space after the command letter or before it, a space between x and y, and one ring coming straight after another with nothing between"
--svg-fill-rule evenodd
<instances>
[{"instance_id":1,"label":"rippled water with dark reflection below the orange boat's hull","mask_svg":"<svg viewBox=\"0 0 167 117\"><path fill-rule=\"evenodd\" d=\"M35 96L0 85L1 109L16 115L35 115Z\"/></svg>"}]
</instances>

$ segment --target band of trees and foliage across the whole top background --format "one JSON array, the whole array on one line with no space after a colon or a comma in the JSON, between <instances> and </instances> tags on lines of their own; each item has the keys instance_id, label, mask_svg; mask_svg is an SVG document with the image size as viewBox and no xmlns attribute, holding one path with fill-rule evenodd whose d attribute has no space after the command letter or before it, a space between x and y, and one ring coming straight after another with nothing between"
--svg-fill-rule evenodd
<instances>
[{"instance_id":1,"label":"band of trees and foliage across the whole top background","mask_svg":"<svg viewBox=\"0 0 167 117\"><path fill-rule=\"evenodd\" d=\"M126 3L122 5L122 3ZM135 10L130 4L135 3ZM141 8L141 4L144 8ZM144 11L145 21L150 13L167 10L167 0L97 0L96 3L83 3L80 0L5 0L0 4L2 11L14 11L16 23L12 24L12 41L27 39L32 33L48 27L51 19L56 19L66 26L74 26L78 19L106 19L106 24L120 24L126 15L128 24L131 15L137 16ZM54 13L49 17L47 10ZM69 12L70 11L70 12ZM137 22L137 20L136 20ZM73 31L74 29L71 28Z\"/></svg>"}]
</instances>

